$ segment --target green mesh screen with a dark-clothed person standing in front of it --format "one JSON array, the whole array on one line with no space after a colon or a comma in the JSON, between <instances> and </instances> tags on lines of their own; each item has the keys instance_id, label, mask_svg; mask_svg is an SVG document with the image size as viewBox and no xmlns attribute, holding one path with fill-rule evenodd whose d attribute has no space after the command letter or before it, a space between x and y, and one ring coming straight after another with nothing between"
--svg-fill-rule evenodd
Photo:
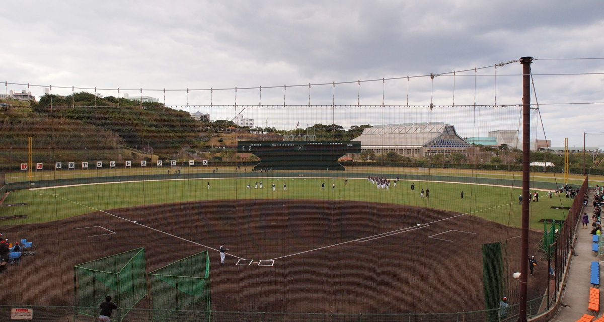
<instances>
[{"instance_id":1,"label":"green mesh screen with a dark-clothed person standing in front of it","mask_svg":"<svg viewBox=\"0 0 604 322\"><path fill-rule=\"evenodd\" d=\"M147 295L144 247L75 266L76 311L95 317L107 295L117 304L112 321L124 316Z\"/></svg>"}]
</instances>

